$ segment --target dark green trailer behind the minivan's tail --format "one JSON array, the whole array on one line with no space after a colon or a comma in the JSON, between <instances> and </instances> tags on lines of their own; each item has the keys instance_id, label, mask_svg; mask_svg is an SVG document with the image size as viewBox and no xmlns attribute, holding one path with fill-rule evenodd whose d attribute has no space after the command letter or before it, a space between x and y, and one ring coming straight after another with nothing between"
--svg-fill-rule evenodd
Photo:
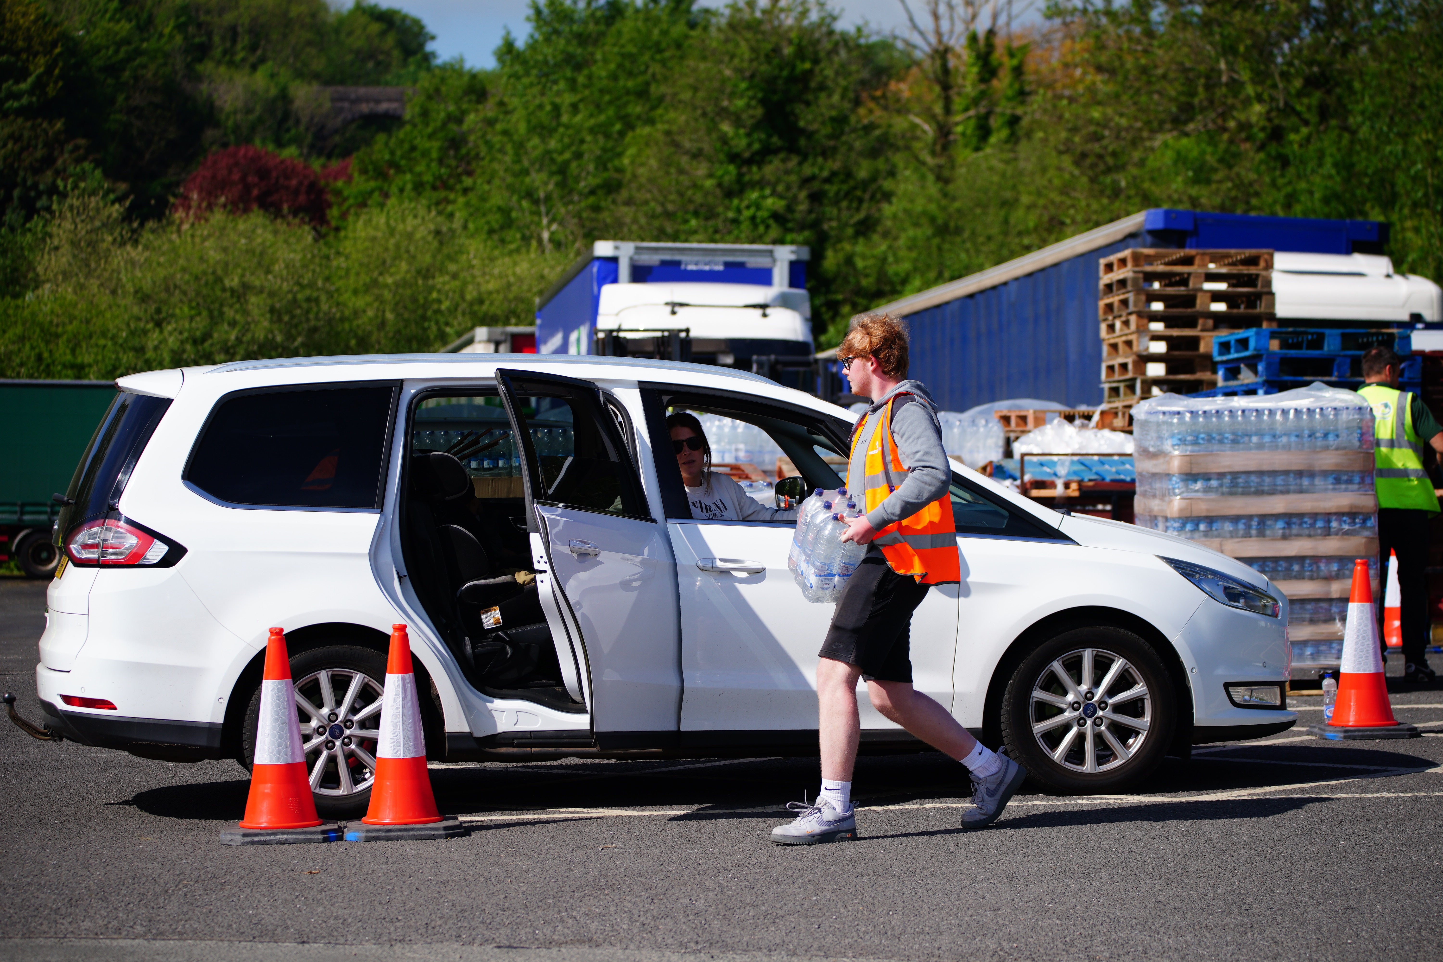
<instances>
[{"instance_id":1,"label":"dark green trailer behind the minivan's tail","mask_svg":"<svg viewBox=\"0 0 1443 962\"><path fill-rule=\"evenodd\" d=\"M95 434L115 385L110 381L0 379L0 552L32 578L55 574L51 531L71 475Z\"/></svg>"}]
</instances>

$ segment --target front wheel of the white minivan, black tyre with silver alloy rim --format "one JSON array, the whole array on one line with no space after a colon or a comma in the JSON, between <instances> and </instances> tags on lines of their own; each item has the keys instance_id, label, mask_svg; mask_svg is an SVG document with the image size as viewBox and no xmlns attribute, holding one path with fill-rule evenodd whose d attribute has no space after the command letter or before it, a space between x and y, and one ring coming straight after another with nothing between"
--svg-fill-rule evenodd
<instances>
[{"instance_id":1,"label":"front wheel of the white minivan, black tyre with silver alloy rim","mask_svg":"<svg viewBox=\"0 0 1443 962\"><path fill-rule=\"evenodd\" d=\"M1176 720L1176 689L1153 646L1102 625L1033 649L1001 702L1007 753L1035 785L1066 795L1136 785L1162 763Z\"/></svg>"}]
</instances>

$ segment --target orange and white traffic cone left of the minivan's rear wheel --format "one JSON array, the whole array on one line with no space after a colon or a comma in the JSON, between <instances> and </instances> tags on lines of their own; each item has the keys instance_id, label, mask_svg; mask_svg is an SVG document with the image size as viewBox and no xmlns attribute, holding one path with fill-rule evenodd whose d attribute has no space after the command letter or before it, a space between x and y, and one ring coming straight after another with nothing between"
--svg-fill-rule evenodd
<instances>
[{"instance_id":1,"label":"orange and white traffic cone left of the minivan's rear wheel","mask_svg":"<svg viewBox=\"0 0 1443 962\"><path fill-rule=\"evenodd\" d=\"M251 764L251 793L238 829L221 832L228 845L276 842L329 842L339 838L335 826L322 826L306 773L306 753L296 718L296 692L290 684L286 635L270 630L266 669L261 674L260 724L255 728L255 759ZM307 831L310 829L310 831ZM317 831L319 829L319 831Z\"/></svg>"}]
</instances>

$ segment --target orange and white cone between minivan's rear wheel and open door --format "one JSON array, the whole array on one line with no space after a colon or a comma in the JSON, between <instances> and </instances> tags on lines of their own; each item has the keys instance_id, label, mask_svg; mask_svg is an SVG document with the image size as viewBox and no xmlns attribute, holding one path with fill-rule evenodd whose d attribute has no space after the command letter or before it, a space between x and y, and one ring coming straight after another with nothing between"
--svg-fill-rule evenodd
<instances>
[{"instance_id":1,"label":"orange and white cone between minivan's rear wheel and open door","mask_svg":"<svg viewBox=\"0 0 1443 962\"><path fill-rule=\"evenodd\" d=\"M392 625L371 808L359 826L348 826L346 841L447 838L462 831L460 822L442 818L436 809L431 776L426 770L426 737L421 731L416 671L411 668L411 639L404 625Z\"/></svg>"}]
</instances>

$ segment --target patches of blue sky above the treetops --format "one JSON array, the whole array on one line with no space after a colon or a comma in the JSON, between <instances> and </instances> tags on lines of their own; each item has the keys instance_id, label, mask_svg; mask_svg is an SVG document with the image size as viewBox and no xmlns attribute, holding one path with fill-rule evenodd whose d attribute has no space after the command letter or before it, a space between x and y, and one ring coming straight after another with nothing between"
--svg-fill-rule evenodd
<instances>
[{"instance_id":1,"label":"patches of blue sky above the treetops","mask_svg":"<svg viewBox=\"0 0 1443 962\"><path fill-rule=\"evenodd\" d=\"M414 13L436 35L434 50L443 61L463 56L470 66L492 66L491 52L501 43L506 27L519 39L527 33L527 0L381 0ZM720 7L723 0L703 0ZM870 23L883 32L906 25L899 0L833 0L843 23ZM1023 7L1019 3L1017 7ZM921 4L913 4L913 10Z\"/></svg>"}]
</instances>

